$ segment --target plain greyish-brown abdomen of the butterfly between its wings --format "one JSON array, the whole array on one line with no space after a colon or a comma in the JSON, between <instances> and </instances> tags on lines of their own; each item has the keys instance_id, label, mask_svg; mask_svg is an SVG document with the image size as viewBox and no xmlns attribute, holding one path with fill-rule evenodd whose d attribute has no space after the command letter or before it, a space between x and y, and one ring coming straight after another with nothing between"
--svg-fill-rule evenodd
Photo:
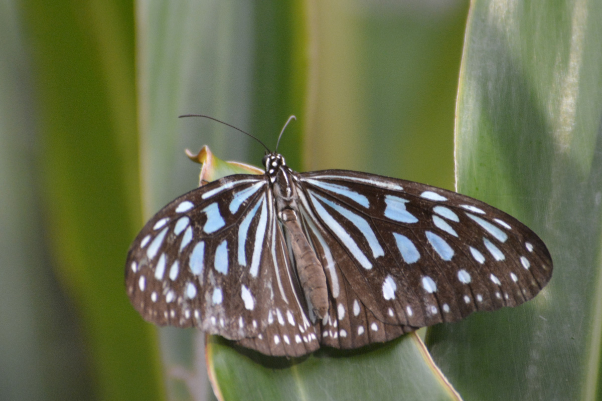
<instances>
[{"instance_id":1,"label":"plain greyish-brown abdomen of the butterfly between its wings","mask_svg":"<svg viewBox=\"0 0 602 401\"><path fill-rule=\"evenodd\" d=\"M291 247L297 265L297 275L305 292L305 297L312 305L314 313L323 319L328 312L328 290L324 269L315 256L314 249L309 245L297 213L293 209L284 209L281 219L291 236Z\"/></svg>"}]
</instances>

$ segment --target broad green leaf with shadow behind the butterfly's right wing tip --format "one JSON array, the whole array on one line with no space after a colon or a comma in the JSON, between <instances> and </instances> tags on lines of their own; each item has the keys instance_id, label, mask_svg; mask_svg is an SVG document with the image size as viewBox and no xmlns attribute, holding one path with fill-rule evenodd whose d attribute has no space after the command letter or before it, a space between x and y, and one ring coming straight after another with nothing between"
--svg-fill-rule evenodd
<instances>
[{"instance_id":1,"label":"broad green leaf with shadow behind the butterfly's right wing tip","mask_svg":"<svg viewBox=\"0 0 602 401\"><path fill-rule=\"evenodd\" d=\"M475 1L456 121L458 189L517 216L554 260L533 301L430 332L467 400L600 397L602 4Z\"/></svg>"}]
</instances>

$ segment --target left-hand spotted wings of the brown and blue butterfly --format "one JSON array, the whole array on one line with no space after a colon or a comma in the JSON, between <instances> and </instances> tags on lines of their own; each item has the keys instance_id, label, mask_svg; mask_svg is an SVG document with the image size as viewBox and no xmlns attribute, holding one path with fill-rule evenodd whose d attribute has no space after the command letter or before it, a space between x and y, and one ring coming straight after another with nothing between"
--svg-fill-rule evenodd
<instances>
[{"instance_id":1,"label":"left-hand spotted wings of the brown and blue butterfly","mask_svg":"<svg viewBox=\"0 0 602 401\"><path fill-rule=\"evenodd\" d=\"M132 305L149 322L196 326L264 354L317 349L273 205L268 179L255 175L176 198L129 249Z\"/></svg>"}]
</instances>

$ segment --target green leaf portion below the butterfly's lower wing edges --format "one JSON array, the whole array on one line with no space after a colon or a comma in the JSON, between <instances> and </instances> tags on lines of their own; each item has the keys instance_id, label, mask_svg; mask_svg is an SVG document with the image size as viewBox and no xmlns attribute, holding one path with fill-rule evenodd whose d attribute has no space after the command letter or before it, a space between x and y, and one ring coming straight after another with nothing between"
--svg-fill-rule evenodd
<instances>
[{"instance_id":1,"label":"green leaf portion below the butterfly's lower wing edges","mask_svg":"<svg viewBox=\"0 0 602 401\"><path fill-rule=\"evenodd\" d=\"M321 349L291 360L235 349L221 337L212 338L209 371L220 399L460 400L416 334L363 350Z\"/></svg>"}]
</instances>

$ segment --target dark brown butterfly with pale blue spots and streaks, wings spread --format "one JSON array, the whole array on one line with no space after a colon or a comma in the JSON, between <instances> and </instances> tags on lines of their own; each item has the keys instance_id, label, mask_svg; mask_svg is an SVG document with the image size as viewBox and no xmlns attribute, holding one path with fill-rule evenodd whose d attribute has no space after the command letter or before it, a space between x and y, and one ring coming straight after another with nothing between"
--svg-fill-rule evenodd
<instances>
[{"instance_id":1,"label":"dark brown butterfly with pale blue spots and streaks, wings spread","mask_svg":"<svg viewBox=\"0 0 602 401\"><path fill-rule=\"evenodd\" d=\"M262 164L144 225L125 274L144 319L299 357L514 307L551 278L544 242L482 201L356 171L297 173L276 152Z\"/></svg>"}]
</instances>

